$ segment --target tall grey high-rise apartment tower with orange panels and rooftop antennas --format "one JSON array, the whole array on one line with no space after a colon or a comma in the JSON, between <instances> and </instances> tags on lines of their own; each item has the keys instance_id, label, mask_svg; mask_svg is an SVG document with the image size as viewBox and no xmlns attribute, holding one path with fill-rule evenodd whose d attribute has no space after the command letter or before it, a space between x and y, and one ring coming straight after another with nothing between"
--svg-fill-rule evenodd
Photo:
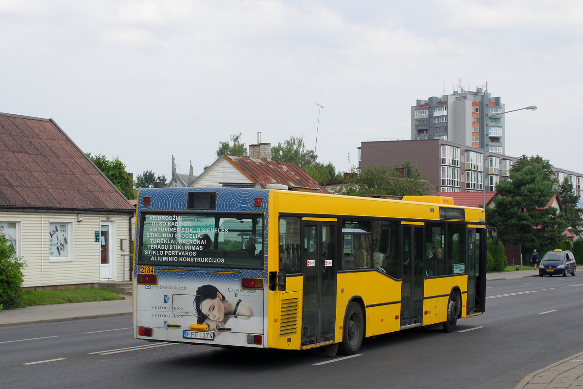
<instances>
[{"instance_id":1,"label":"tall grey high-rise apartment tower with orange panels and rooftop antennas","mask_svg":"<svg viewBox=\"0 0 583 389\"><path fill-rule=\"evenodd\" d=\"M417 100L411 107L411 139L442 139L504 154L504 104L477 87Z\"/></svg>"}]
</instances>

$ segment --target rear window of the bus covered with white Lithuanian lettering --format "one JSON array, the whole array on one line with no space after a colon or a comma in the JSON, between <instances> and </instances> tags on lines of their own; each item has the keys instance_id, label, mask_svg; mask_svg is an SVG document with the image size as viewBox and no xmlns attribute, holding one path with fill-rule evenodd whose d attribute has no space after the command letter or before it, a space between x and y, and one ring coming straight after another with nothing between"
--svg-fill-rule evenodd
<instances>
[{"instance_id":1,"label":"rear window of the bus covered with white Lithuanian lettering","mask_svg":"<svg viewBox=\"0 0 583 389\"><path fill-rule=\"evenodd\" d=\"M263 216L142 213L138 250L141 264L262 268Z\"/></svg>"}]
</instances>

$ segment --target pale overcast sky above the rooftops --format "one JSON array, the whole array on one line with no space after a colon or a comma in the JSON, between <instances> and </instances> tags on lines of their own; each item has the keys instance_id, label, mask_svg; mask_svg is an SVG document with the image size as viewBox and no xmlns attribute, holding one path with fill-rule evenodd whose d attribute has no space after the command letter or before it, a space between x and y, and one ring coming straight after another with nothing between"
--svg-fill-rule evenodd
<instances>
[{"instance_id":1,"label":"pale overcast sky above the rooftops","mask_svg":"<svg viewBox=\"0 0 583 389\"><path fill-rule=\"evenodd\" d=\"M361 142L410 138L417 99L487 83L538 107L506 115L507 155L583 173L582 19L577 0L0 0L0 112L134 176L173 155L200 174L239 132L347 171Z\"/></svg>"}]
</instances>

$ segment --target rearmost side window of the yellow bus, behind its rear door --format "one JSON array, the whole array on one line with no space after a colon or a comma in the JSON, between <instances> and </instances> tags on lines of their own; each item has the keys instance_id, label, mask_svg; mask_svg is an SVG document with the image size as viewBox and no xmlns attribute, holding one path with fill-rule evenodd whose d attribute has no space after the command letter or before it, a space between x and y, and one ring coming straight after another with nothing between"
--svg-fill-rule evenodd
<instances>
[{"instance_id":1,"label":"rearmost side window of the yellow bus, behind its rear door","mask_svg":"<svg viewBox=\"0 0 583 389\"><path fill-rule=\"evenodd\" d=\"M300 272L300 219L279 218L279 271Z\"/></svg>"}]
</instances>

